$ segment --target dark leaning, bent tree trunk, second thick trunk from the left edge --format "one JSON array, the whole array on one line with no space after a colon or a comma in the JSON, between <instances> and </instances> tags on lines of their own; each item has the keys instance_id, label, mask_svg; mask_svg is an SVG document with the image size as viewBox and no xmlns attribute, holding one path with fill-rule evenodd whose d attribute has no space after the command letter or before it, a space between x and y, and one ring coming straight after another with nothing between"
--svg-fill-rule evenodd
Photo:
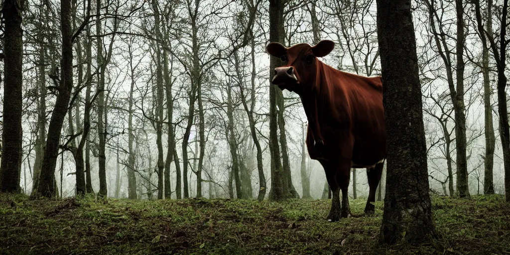
<instances>
[{"instance_id":1,"label":"dark leaning, bent tree trunk, second thick trunk from the left edge","mask_svg":"<svg viewBox=\"0 0 510 255\"><path fill-rule=\"evenodd\" d=\"M45 197L58 195L55 187L55 169L57 166L60 134L65 115L69 105L72 89L72 30L71 30L71 3L61 1L60 24L62 30L62 60L59 93L55 101L52 118L49 121L46 149L41 167L41 176L37 191Z\"/></svg>"}]
</instances>

